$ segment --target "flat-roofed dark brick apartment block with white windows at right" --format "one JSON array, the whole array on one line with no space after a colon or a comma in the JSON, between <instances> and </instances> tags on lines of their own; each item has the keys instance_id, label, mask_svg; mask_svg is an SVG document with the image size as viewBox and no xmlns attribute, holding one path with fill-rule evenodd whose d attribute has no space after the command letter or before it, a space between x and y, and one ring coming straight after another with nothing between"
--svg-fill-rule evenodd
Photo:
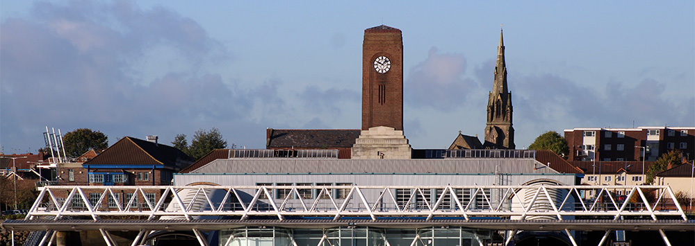
<instances>
[{"instance_id":1,"label":"flat-roofed dark brick apartment block with white windows at right","mask_svg":"<svg viewBox=\"0 0 695 246\"><path fill-rule=\"evenodd\" d=\"M655 161L674 149L695 158L695 127L573 128L564 137L570 161Z\"/></svg>"}]
</instances>

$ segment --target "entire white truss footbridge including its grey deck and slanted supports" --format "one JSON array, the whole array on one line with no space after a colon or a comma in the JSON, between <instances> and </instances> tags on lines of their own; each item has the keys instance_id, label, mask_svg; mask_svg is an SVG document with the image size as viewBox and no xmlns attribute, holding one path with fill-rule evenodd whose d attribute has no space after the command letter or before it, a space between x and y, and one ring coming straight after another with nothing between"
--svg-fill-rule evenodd
<instances>
[{"instance_id":1,"label":"entire white truss footbridge including its grey deck and slanted supports","mask_svg":"<svg viewBox=\"0 0 695 246\"><path fill-rule=\"evenodd\" d=\"M626 194L626 195L616 195ZM88 219L85 219L88 218ZM129 219L120 219L129 218ZM133 219L136 218L136 219ZM248 226L469 227L518 231L694 231L669 186L45 186L11 230L201 231ZM230 238L231 240L231 238ZM388 245L388 242L386 242Z\"/></svg>"}]
</instances>

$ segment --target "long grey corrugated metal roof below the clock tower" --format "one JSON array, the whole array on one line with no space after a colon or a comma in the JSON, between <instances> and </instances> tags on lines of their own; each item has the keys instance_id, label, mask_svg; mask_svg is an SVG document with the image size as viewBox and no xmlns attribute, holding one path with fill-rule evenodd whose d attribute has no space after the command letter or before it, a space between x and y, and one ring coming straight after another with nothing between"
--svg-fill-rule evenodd
<instances>
[{"instance_id":1,"label":"long grey corrugated metal roof below the clock tower","mask_svg":"<svg viewBox=\"0 0 695 246\"><path fill-rule=\"evenodd\" d=\"M190 173L558 173L534 159L217 159Z\"/></svg>"}]
</instances>

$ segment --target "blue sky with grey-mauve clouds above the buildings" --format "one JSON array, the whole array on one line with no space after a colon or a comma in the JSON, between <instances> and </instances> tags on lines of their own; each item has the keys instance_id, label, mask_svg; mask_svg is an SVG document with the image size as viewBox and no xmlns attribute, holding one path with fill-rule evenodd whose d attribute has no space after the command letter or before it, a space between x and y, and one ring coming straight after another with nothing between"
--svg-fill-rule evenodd
<instances>
[{"instance_id":1,"label":"blue sky with grey-mauve clouds above the buildings","mask_svg":"<svg viewBox=\"0 0 695 246\"><path fill-rule=\"evenodd\" d=\"M517 148L567 128L695 125L693 1L6 1L0 146L218 128L357 129L363 30L399 28L414 148L482 134L504 25ZM189 139L190 141L190 139Z\"/></svg>"}]
</instances>

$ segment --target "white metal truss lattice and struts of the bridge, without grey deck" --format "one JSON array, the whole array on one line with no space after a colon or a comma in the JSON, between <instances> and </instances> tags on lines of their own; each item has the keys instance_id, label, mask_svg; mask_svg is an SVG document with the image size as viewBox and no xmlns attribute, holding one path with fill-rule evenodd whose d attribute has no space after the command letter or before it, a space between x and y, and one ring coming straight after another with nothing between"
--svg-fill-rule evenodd
<instances>
[{"instance_id":1,"label":"white metal truss lattice and struts of the bridge, without grey deck","mask_svg":"<svg viewBox=\"0 0 695 246\"><path fill-rule=\"evenodd\" d=\"M619 197L616 191L629 192ZM647 192L655 194L655 200L648 199ZM156 193L158 198L151 201L146 193ZM129 200L120 199L128 195ZM566 220L573 216L603 216L619 220L623 216L649 216L659 220L679 216L687 220L669 186L550 185L44 186L24 220L40 216L54 216L51 217L54 220L63 216L90 216L95 221L103 216L145 216L147 220L227 216L242 221L250 217L285 220L288 216L334 220L418 217L427 221L438 217ZM106 243L114 245L111 234L104 229L100 231ZM564 231L575 244L570 231ZM150 232L140 230L133 245L142 243ZM507 242L516 232L509 234ZM201 245L206 244L199 230L193 229L193 233ZM670 245L663 230L660 234ZM50 242L49 238L54 236L54 231L47 231L42 243Z\"/></svg>"}]
</instances>

